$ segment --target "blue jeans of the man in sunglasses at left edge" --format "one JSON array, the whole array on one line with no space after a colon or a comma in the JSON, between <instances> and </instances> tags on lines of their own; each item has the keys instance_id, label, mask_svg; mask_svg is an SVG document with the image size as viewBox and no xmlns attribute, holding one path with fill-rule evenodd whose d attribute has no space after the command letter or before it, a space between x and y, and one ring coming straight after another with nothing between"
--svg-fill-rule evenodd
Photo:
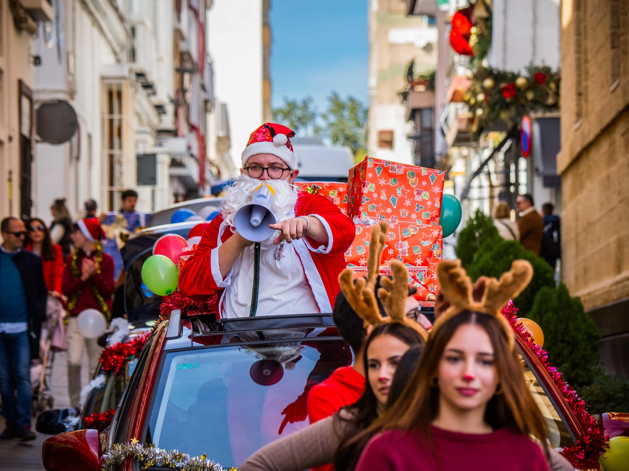
<instances>
[{"instance_id":1,"label":"blue jeans of the man in sunglasses at left edge","mask_svg":"<svg viewBox=\"0 0 629 471\"><path fill-rule=\"evenodd\" d=\"M30 366L28 332L0 333L0 395L8 426L31 423Z\"/></svg>"}]
</instances>

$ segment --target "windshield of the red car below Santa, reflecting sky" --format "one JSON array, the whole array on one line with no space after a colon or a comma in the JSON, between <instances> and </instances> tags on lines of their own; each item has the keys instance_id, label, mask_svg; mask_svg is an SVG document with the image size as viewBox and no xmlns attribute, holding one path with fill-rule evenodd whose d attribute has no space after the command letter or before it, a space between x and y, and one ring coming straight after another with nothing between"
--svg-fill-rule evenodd
<instances>
[{"instance_id":1,"label":"windshield of the red car below Santa, reflecting sky","mask_svg":"<svg viewBox=\"0 0 629 471\"><path fill-rule=\"evenodd\" d=\"M308 425L309 387L351 362L332 339L169 352L144 441L238 467Z\"/></svg>"}]
</instances>

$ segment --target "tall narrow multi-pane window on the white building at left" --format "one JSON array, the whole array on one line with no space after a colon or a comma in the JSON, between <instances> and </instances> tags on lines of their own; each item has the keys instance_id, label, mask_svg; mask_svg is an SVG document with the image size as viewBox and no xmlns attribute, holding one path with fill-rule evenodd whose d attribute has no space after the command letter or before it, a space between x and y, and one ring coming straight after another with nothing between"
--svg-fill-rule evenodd
<instances>
[{"instance_id":1,"label":"tall narrow multi-pane window on the white building at left","mask_svg":"<svg viewBox=\"0 0 629 471\"><path fill-rule=\"evenodd\" d=\"M115 211L123 191L124 127L123 82L104 82L103 115L103 187L106 207Z\"/></svg>"}]
</instances>

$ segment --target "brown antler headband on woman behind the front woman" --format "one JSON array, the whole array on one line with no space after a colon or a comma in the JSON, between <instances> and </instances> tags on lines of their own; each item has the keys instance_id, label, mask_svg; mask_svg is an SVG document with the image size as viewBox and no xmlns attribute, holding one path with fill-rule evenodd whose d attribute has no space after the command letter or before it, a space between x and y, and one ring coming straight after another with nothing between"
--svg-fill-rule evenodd
<instances>
[{"instance_id":1,"label":"brown antler headband on woman behind the front woman","mask_svg":"<svg viewBox=\"0 0 629 471\"><path fill-rule=\"evenodd\" d=\"M416 330L423 340L428 339L428 332L414 320L406 317L405 303L408 296L408 271L403 263L394 260L391 266L392 279L381 278L381 288L378 298L384 306L388 317L382 317L376 301L376 279L380 271L380 257L384 249L389 223L384 221L374 225L369 242L369 257L367 258L367 279L353 279L352 269L345 269L338 276L338 284L352 309L364 320L365 327L374 327L386 323L400 323Z\"/></svg>"}]
</instances>

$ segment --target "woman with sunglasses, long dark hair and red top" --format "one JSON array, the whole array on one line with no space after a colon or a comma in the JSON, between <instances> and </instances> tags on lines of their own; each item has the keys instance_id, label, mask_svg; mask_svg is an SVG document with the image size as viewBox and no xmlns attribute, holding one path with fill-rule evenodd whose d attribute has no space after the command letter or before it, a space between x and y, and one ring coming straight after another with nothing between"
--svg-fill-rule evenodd
<instances>
[{"instance_id":1,"label":"woman with sunglasses, long dark hair and red top","mask_svg":"<svg viewBox=\"0 0 629 471\"><path fill-rule=\"evenodd\" d=\"M43 278L48 293L59 298L64 277L64 256L61 246L52 243L48 227L39 218L35 217L28 221L26 232L26 250L42 257Z\"/></svg>"}]
</instances>

